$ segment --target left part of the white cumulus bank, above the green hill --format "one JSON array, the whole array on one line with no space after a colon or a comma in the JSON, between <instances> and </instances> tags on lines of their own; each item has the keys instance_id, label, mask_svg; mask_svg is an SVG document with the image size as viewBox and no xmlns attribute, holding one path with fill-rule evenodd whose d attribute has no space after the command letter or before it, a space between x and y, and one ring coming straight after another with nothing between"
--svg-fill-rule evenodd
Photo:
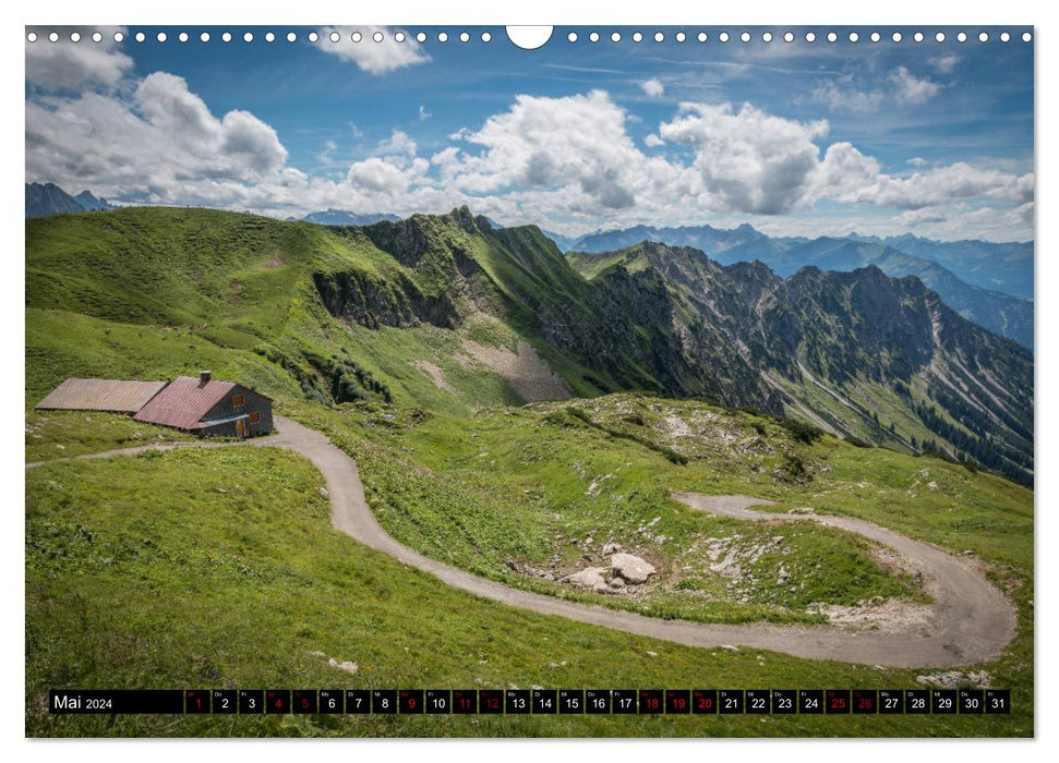
<instances>
[{"instance_id":1,"label":"left part of the white cumulus bank, above the green hill","mask_svg":"<svg viewBox=\"0 0 1059 763\"><path fill-rule=\"evenodd\" d=\"M155 72L119 85L26 100L27 182L91 189L118 203L280 217L327 208L440 213L469 201L425 181L430 162L401 131L335 181L289 167L272 126L241 110L215 116L179 76ZM326 141L317 159L334 164L340 148Z\"/></svg>"}]
</instances>

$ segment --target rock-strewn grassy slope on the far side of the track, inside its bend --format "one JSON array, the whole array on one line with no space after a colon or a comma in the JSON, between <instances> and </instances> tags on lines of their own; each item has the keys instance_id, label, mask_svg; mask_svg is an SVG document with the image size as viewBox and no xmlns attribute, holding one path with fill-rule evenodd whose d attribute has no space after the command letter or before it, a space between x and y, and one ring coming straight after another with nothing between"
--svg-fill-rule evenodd
<instances>
[{"instance_id":1,"label":"rock-strewn grassy slope on the far side of the track, inside its bend","mask_svg":"<svg viewBox=\"0 0 1059 763\"><path fill-rule=\"evenodd\" d=\"M938 459L796 439L780 424L703 403L638 396L540 403L467 420L294 407L361 464L369 500L399 541L510 585L657 617L819 622L825 602L922 601L855 536L807 523L779 528L694 512L676 491L745 494L780 510L864 517L954 553L972 549L1032 580L1033 496L1006 480ZM573 415L576 413L577 415ZM676 433L676 434L674 434ZM979 532L960 532L978 518ZM734 581L711 569L711 541L747 552L782 535ZM660 540L661 537L661 540ZM558 579L605 566L604 544L649 559L659 578L629 597ZM512 562L514 562L514 568ZM1010 568L1010 570L1008 569ZM779 585L785 570L791 583ZM793 584L792 584L793 583Z\"/></svg>"}]
</instances>

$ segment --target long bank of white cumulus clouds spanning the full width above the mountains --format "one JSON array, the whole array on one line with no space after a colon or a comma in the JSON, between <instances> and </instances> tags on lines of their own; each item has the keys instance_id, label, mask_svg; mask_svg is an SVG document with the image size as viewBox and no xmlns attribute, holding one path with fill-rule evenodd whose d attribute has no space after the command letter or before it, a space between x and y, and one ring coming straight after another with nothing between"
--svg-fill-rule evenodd
<instances>
[{"instance_id":1,"label":"long bank of white cumulus clouds spanning the full width above the mountains","mask_svg":"<svg viewBox=\"0 0 1059 763\"><path fill-rule=\"evenodd\" d=\"M277 216L326 208L407 215L468 204L502 222L565 232L602 221L737 225L751 217L755 225L818 225L822 233L864 216L939 235L961 225L963 237L1032 231L1032 173L1008 165L930 167L919 157L908 160L912 171L888 173L851 143L829 144L827 121L799 122L751 105L684 104L637 145L629 114L602 90L524 95L459 130L429 159L394 130L371 156L328 179L290 167L276 131L254 114L210 112L179 76L156 72L118 85L26 100L27 181L127 203ZM347 150L346 141L360 143L359 150ZM675 150L643 149L664 145ZM333 171L336 154L363 156L363 148L362 137L335 138L316 158ZM827 222L835 205L845 205L845 216ZM811 216L782 217L815 207Z\"/></svg>"}]
</instances>

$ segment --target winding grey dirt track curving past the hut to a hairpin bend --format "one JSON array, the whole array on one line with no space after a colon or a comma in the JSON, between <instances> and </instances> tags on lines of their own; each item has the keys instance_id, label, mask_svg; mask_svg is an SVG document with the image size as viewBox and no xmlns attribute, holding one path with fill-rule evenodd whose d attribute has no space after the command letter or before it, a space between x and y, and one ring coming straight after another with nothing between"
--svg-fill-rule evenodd
<instances>
[{"instance_id":1,"label":"winding grey dirt track curving past the hut to a hairpin bend","mask_svg":"<svg viewBox=\"0 0 1059 763\"><path fill-rule=\"evenodd\" d=\"M893 548L902 566L922 576L935 604L929 607L929 635L911 631L845 631L833 627L790 627L754 623L706 625L661 620L588 604L565 602L509 588L449 567L407 548L375 520L360 483L356 462L320 432L276 416L278 434L246 440L245 445L287 448L309 459L324 475L332 505L332 525L350 537L478 596L542 615L565 617L603 628L672 641L687 646L723 645L782 652L807 659L833 659L886 667L953 667L989 662L1000 656L1015 629L1015 610L1007 598L959 557L864 520L847 517L803 516L747 511L768 501L745 496L703 496L677 493L674 498L691 509L745 520L816 521L857 533ZM177 447L229 447L243 444L192 443L141 446L70 460L108 458ZM40 463L27 463L26 468Z\"/></svg>"}]
</instances>

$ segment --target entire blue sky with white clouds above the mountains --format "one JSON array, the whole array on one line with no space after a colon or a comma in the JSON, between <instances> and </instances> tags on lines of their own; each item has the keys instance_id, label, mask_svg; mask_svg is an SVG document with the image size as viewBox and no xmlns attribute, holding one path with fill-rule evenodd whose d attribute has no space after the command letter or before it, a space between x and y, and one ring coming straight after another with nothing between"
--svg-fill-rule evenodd
<instances>
[{"instance_id":1,"label":"entire blue sky with white clouds above the mountains","mask_svg":"<svg viewBox=\"0 0 1059 763\"><path fill-rule=\"evenodd\" d=\"M542 49L502 28L122 29L26 44L26 180L119 203L277 217L325 208L445 211L576 234L648 225L773 233L913 231L1033 238L1033 45L871 43L813 27L556 27ZM466 29L471 41L460 43ZM178 33L190 40L179 43ZM201 32L212 39L203 44ZM274 43L264 41L273 31ZM569 32L576 43L567 39ZM643 40L634 43L634 31ZM159 32L167 35L157 41ZM244 43L250 32L254 41ZM353 43L350 35L363 39ZM383 43L371 35L380 32ZM697 35L705 32L706 43Z\"/></svg>"}]
</instances>

